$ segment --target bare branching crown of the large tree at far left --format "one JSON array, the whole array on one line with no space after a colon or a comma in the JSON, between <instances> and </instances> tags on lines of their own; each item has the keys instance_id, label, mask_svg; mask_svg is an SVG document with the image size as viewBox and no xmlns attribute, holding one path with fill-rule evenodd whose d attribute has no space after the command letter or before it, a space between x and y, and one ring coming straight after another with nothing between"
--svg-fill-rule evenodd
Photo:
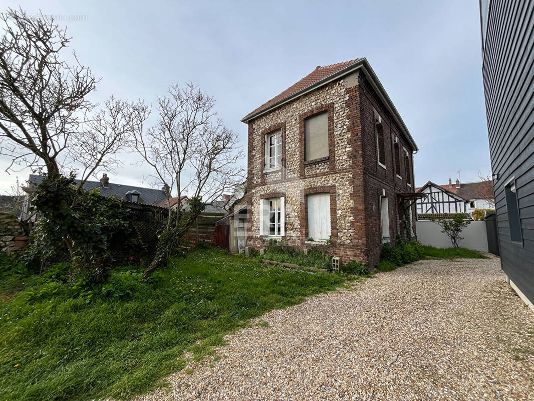
<instances>
[{"instance_id":1,"label":"bare branching crown of the large tree at far left","mask_svg":"<svg viewBox=\"0 0 534 401\"><path fill-rule=\"evenodd\" d=\"M146 107L112 98L96 112L98 104L87 96L98 80L74 53L72 65L61 58L71 39L66 29L22 10L9 9L0 21L0 155L11 158L6 171L20 166L60 174L77 166L83 186L99 167L112 169L116 152L147 117Z\"/></svg>"}]
</instances>

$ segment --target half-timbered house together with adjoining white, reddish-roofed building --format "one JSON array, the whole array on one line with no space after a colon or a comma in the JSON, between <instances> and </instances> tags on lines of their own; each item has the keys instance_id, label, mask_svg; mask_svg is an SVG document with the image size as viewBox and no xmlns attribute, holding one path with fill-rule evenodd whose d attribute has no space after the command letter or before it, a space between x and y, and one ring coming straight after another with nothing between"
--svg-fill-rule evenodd
<instances>
[{"instance_id":1,"label":"half-timbered house together with adjoining white, reddish-roofed building","mask_svg":"<svg viewBox=\"0 0 534 401\"><path fill-rule=\"evenodd\" d=\"M418 199L417 213L473 213L475 209L493 209L490 197L492 189L489 188L491 182L466 182L438 185L428 181L421 188L415 191L428 194L427 198ZM494 203L494 201L493 201Z\"/></svg>"}]
</instances>

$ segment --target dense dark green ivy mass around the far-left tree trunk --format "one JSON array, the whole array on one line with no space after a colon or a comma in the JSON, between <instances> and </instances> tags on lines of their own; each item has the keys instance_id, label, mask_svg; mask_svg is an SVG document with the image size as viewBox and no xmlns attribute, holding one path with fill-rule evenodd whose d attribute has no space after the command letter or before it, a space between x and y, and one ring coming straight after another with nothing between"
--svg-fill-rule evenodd
<instances>
[{"instance_id":1,"label":"dense dark green ivy mass around the far-left tree trunk","mask_svg":"<svg viewBox=\"0 0 534 401\"><path fill-rule=\"evenodd\" d=\"M121 199L103 197L99 189L78 188L75 175L49 176L36 188L32 207L40 214L33 230L35 252L68 252L75 274L104 282L113 250L127 248L131 211Z\"/></svg>"}]
</instances>

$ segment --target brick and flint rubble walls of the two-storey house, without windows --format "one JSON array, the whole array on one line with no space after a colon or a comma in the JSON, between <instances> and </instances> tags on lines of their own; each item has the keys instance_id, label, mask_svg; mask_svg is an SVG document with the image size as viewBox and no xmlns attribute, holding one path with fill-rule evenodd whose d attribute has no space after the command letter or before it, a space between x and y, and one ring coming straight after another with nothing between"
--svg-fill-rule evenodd
<instances>
[{"instance_id":1,"label":"brick and flint rubble walls of the two-storey house, without windows","mask_svg":"<svg viewBox=\"0 0 534 401\"><path fill-rule=\"evenodd\" d=\"M376 156L373 108L381 115L384 126L386 169L378 165ZM328 157L304 161L304 119L325 111L328 112ZM265 135L275 130L281 130L282 136L281 168L265 172ZM389 201L391 240L397 233L406 236L399 227L396 194L413 192L406 185L403 153L405 148L411 159L413 149L400 133L387 108L359 72L249 121L248 193L235 206L249 206L247 246L264 248L270 239L260 235L260 199L285 196L285 236L282 237L285 244L297 250L318 246L340 256L343 263L360 260L375 266L382 248L382 190ZM393 136L399 138L402 153L400 172L394 171ZM332 244L329 245L305 241L306 196L319 192L330 194ZM415 217L414 209L412 215Z\"/></svg>"}]
</instances>

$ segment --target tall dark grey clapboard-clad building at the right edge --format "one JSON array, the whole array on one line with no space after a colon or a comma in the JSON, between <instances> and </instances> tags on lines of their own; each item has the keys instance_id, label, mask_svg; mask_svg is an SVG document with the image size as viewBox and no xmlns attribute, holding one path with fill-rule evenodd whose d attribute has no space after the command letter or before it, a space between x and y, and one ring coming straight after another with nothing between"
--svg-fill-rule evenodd
<instances>
[{"instance_id":1,"label":"tall dark grey clapboard-clad building at the right edge","mask_svg":"<svg viewBox=\"0 0 534 401\"><path fill-rule=\"evenodd\" d=\"M501 265L534 311L534 0L482 0L480 13Z\"/></svg>"}]
</instances>

